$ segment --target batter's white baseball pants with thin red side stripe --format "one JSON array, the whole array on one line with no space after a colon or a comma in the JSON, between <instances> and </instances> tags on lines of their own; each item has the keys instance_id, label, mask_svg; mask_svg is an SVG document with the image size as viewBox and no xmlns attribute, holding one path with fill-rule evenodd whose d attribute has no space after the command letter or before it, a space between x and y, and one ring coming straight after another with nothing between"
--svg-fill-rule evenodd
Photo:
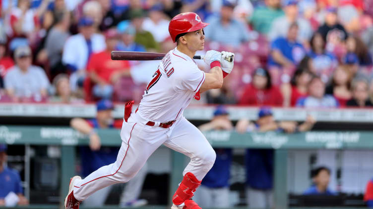
<instances>
[{"instance_id":1,"label":"batter's white baseball pants with thin red side stripe","mask_svg":"<svg viewBox=\"0 0 373 209\"><path fill-rule=\"evenodd\" d=\"M74 197L77 200L83 201L95 191L112 184L129 181L162 144L190 158L183 176L191 172L198 180L202 180L213 166L216 154L198 128L184 117L169 128L149 126L146 123L134 112L127 123L123 122L122 146L117 161L100 167L82 180L76 180Z\"/></svg>"}]
</instances>

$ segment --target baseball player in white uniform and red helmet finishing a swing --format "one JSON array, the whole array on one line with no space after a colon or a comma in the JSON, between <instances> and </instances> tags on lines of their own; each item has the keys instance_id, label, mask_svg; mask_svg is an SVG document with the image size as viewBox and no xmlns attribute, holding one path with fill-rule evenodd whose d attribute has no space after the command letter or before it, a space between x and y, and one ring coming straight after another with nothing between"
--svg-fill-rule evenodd
<instances>
[{"instance_id":1,"label":"baseball player in white uniform and red helmet finishing a swing","mask_svg":"<svg viewBox=\"0 0 373 209\"><path fill-rule=\"evenodd\" d=\"M192 57L203 49L203 28L207 25L193 12L179 14L170 21L169 32L177 46L159 62L138 108L132 112L133 101L125 104L117 161L84 179L72 177L66 209L78 209L80 202L95 191L129 181L162 144L190 158L172 198L172 209L200 209L191 198L213 166L216 154L183 112L193 97L199 99L199 93L222 86L223 78L232 71L234 57L231 52L209 50L204 62L210 65L210 72L198 69Z\"/></svg>"}]
</instances>

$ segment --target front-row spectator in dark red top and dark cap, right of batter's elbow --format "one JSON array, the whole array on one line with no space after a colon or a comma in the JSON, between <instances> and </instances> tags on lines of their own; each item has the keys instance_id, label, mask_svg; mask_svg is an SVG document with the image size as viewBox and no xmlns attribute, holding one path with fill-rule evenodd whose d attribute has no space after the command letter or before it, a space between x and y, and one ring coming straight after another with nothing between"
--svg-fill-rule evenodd
<instances>
[{"instance_id":1,"label":"front-row spectator in dark red top and dark cap, right of batter's elbow","mask_svg":"<svg viewBox=\"0 0 373 209\"><path fill-rule=\"evenodd\" d=\"M277 86L272 85L267 70L258 68L252 76L252 83L247 85L240 99L241 105L282 106L283 97Z\"/></svg>"}]
</instances>

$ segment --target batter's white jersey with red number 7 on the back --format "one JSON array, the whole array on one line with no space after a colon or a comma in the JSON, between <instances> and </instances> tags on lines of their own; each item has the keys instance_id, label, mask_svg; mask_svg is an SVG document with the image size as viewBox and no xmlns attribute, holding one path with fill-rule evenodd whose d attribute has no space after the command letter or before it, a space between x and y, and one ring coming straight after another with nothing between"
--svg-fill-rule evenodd
<instances>
[{"instance_id":1,"label":"batter's white jersey with red number 7 on the back","mask_svg":"<svg viewBox=\"0 0 373 209\"><path fill-rule=\"evenodd\" d=\"M137 114L161 123L181 118L205 77L193 59L174 48L159 62Z\"/></svg>"}]
</instances>

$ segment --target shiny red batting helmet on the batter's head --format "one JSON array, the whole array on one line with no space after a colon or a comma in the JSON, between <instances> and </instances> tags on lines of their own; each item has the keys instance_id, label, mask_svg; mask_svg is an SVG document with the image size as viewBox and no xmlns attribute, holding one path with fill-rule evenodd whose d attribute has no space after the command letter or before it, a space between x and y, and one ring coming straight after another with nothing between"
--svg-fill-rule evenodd
<instances>
[{"instance_id":1,"label":"shiny red batting helmet on the batter's head","mask_svg":"<svg viewBox=\"0 0 373 209\"><path fill-rule=\"evenodd\" d=\"M198 14L194 12L185 12L172 18L168 25L168 31L170 32L172 41L176 42L176 37L179 34L198 31L209 24L210 23L202 22Z\"/></svg>"}]
</instances>

